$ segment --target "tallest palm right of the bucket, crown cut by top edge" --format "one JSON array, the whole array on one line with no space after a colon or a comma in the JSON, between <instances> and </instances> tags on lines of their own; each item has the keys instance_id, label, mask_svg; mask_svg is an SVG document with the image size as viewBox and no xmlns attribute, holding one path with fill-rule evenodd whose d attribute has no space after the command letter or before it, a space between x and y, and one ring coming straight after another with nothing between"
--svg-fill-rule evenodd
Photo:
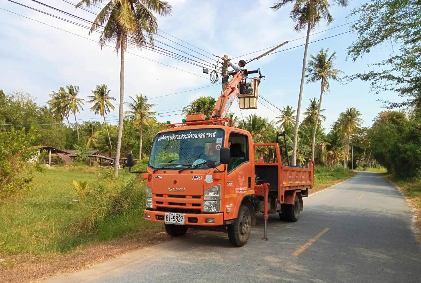
<instances>
[{"instance_id":1,"label":"tallest palm right of the bucket, crown cut by top edge","mask_svg":"<svg viewBox=\"0 0 421 283\"><path fill-rule=\"evenodd\" d=\"M333 2L342 7L345 7L348 4L348 0L333 0ZM303 68L301 71L300 92L298 94L297 115L294 128L293 165L296 165L295 157L297 150L298 126L300 121L301 100L303 98L304 77L306 72L306 60L310 30L314 29L316 24L319 23L322 19L325 19L327 24L330 24L333 21L333 17L330 15L328 9L330 7L328 0L278 0L271 8L273 10L279 10L288 3L293 3L293 8L290 11L290 18L296 23L294 30L301 32L303 29L307 29L306 45L304 47Z\"/></svg>"}]
</instances>

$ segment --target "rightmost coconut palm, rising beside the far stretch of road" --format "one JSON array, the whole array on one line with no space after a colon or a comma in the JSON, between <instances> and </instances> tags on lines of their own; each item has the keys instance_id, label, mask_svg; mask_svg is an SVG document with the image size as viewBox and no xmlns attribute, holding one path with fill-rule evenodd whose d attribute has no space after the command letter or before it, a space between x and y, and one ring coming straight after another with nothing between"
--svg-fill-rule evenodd
<instances>
[{"instance_id":1,"label":"rightmost coconut palm, rising beside the far stretch of road","mask_svg":"<svg viewBox=\"0 0 421 283\"><path fill-rule=\"evenodd\" d=\"M354 134L358 128L361 128L361 123L364 122L364 120L362 120L360 117L360 111L354 107L346 108L345 112L339 114L338 123L341 129L341 133L347 141L344 151L344 170L348 165L349 143L351 141L351 135Z\"/></svg>"}]
</instances>

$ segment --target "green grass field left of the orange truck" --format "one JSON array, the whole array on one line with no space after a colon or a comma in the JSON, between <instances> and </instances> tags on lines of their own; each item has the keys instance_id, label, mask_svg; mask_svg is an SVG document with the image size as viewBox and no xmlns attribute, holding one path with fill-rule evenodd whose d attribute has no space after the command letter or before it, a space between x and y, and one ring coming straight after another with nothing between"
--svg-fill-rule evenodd
<instances>
[{"instance_id":1,"label":"green grass field left of the orange truck","mask_svg":"<svg viewBox=\"0 0 421 283\"><path fill-rule=\"evenodd\" d=\"M34 189L0 205L0 254L68 252L80 244L109 240L156 225L144 220L141 199L142 204L132 205L130 213L122 210L97 221L94 230L78 228L98 203L88 196L85 205L69 204L77 199L71 182L88 181L92 190L99 185L100 174L106 171L82 166L53 167L45 173L36 173ZM120 170L119 179L126 181L134 175Z\"/></svg>"}]
</instances>

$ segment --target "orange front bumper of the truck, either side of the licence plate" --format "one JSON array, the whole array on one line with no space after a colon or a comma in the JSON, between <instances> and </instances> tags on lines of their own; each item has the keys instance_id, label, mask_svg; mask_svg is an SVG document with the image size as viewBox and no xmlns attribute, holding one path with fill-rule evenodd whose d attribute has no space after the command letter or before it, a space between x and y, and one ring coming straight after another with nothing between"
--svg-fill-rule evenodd
<instances>
[{"instance_id":1,"label":"orange front bumper of the truck, either side of the licence plate","mask_svg":"<svg viewBox=\"0 0 421 283\"><path fill-rule=\"evenodd\" d=\"M150 217L147 217L149 215ZM145 220L155 221L155 222L164 222L165 212L163 211L154 211L154 210L144 210ZM186 215L186 225L200 225L200 226L220 226L224 225L224 213L184 213ZM160 219L157 219L160 218ZM213 218L215 222L208 223L206 219Z\"/></svg>"}]
</instances>

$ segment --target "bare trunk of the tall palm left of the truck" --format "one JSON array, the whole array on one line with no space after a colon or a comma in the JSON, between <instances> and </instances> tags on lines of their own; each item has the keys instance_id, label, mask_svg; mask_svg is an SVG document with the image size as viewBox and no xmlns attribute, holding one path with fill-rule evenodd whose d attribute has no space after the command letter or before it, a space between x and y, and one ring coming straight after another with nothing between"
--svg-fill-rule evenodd
<instances>
[{"instance_id":1,"label":"bare trunk of the tall palm left of the truck","mask_svg":"<svg viewBox=\"0 0 421 283\"><path fill-rule=\"evenodd\" d=\"M115 160L114 160L114 174L118 176L118 166L120 165L120 150L121 150L121 136L123 135L123 107L124 107L124 53L126 51L125 40L121 42L120 49L120 105L118 111L118 136L117 136L117 148L115 149Z\"/></svg>"}]
</instances>

